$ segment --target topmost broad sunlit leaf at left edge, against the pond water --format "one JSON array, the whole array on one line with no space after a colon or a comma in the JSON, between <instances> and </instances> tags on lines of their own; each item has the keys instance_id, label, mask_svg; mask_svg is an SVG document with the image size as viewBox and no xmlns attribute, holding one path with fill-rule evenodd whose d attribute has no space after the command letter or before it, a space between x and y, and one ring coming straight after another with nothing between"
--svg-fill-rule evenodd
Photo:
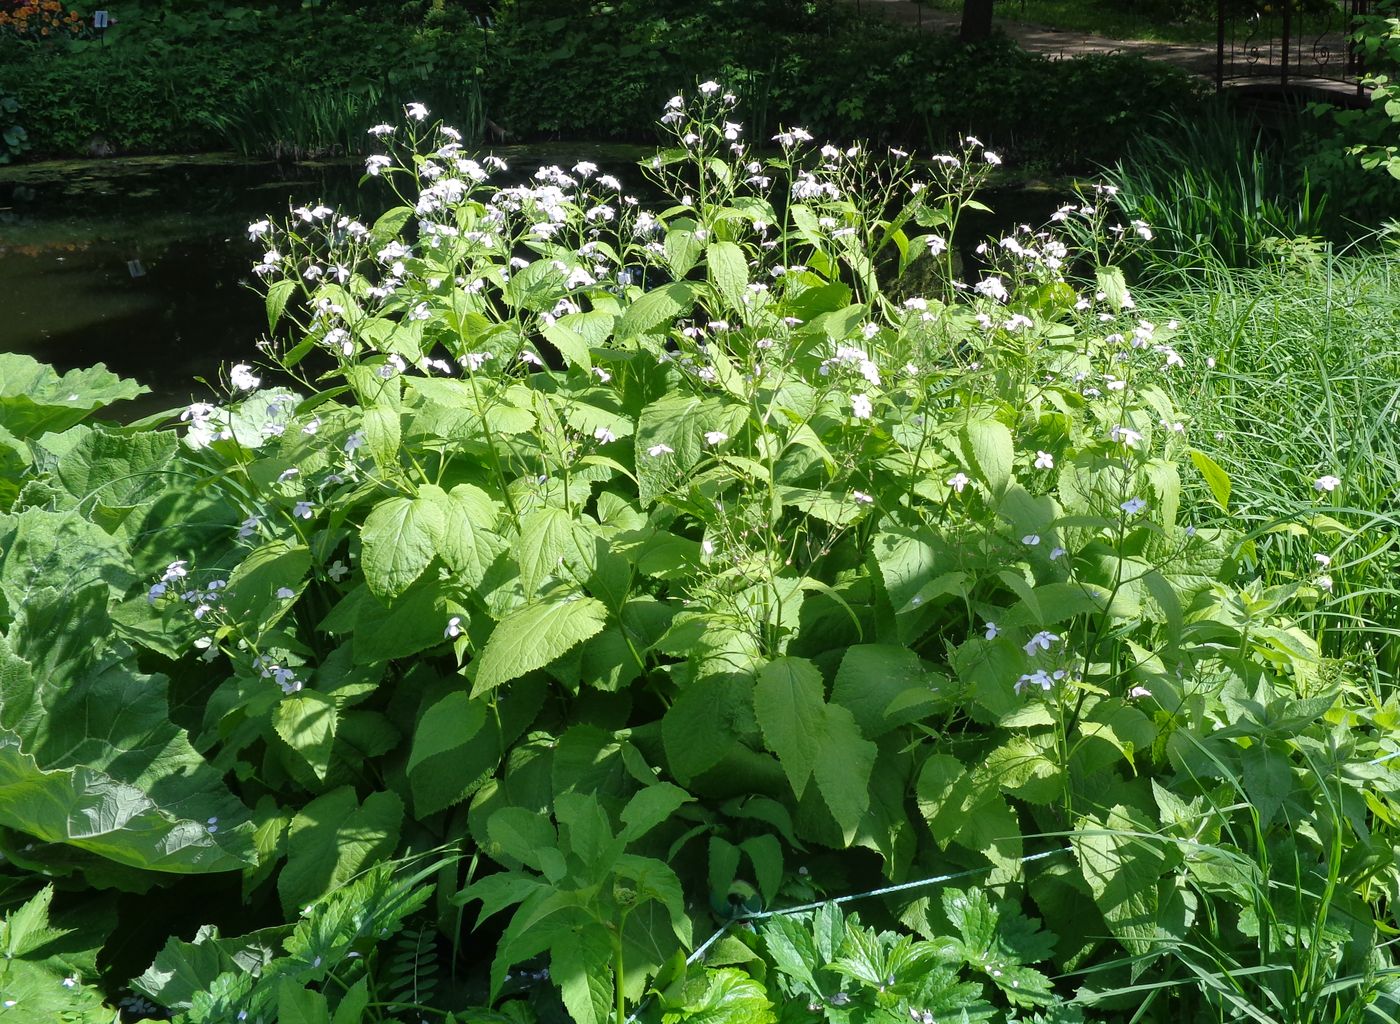
<instances>
[{"instance_id":1,"label":"topmost broad sunlit leaf at left edge, against the pond water","mask_svg":"<svg viewBox=\"0 0 1400 1024\"><path fill-rule=\"evenodd\" d=\"M59 377L32 356L0 352L0 427L17 437L66 430L102 406L147 391L101 363Z\"/></svg>"}]
</instances>

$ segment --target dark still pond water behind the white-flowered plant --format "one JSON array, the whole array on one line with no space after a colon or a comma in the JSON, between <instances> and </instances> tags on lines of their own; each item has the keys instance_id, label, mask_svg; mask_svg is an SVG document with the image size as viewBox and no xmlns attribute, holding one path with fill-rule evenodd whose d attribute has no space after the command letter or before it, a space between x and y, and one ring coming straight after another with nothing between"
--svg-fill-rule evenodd
<instances>
[{"instance_id":1,"label":"dark still pond water behind the white-flowered plant","mask_svg":"<svg viewBox=\"0 0 1400 1024\"><path fill-rule=\"evenodd\" d=\"M588 158L641 184L637 147L510 147L512 164ZM106 363L153 394L127 416L206 399L227 361L249 360L266 331L249 287L260 249L246 226L325 200L372 217L388 195L360 189L361 164L277 167L224 157L132 158L0 172L0 350L59 370ZM1004 193L998 224L1042 220L1049 192Z\"/></svg>"}]
</instances>

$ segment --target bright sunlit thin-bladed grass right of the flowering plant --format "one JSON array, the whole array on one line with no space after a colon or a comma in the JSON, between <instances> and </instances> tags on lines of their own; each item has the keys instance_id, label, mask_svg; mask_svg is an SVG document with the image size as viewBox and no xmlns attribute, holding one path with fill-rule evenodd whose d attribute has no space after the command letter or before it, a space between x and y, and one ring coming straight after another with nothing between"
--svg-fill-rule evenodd
<instances>
[{"instance_id":1,"label":"bright sunlit thin-bladed grass right of the flowering plant","mask_svg":"<svg viewBox=\"0 0 1400 1024\"><path fill-rule=\"evenodd\" d=\"M1140 298L1145 318L1182 322L1193 375L1176 378L1175 398L1193 443L1231 475L1226 514L1252 537L1242 558L1270 584L1303 587L1323 651L1394 693L1400 254L1217 263ZM1341 486L1317 490L1324 475Z\"/></svg>"}]
</instances>

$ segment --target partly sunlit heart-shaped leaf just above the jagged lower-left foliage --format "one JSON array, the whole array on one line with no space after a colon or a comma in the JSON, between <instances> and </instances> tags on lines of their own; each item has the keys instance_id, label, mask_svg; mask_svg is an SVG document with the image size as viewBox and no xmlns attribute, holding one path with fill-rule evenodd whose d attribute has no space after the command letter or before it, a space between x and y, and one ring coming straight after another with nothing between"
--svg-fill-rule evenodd
<instances>
[{"instance_id":1,"label":"partly sunlit heart-shaped leaf just above the jagged lower-left foliage","mask_svg":"<svg viewBox=\"0 0 1400 1024\"><path fill-rule=\"evenodd\" d=\"M403 824L403 801L379 791L356 798L342 786L307 804L287 832L287 866L277 878L283 909L297 912L393 856Z\"/></svg>"}]
</instances>

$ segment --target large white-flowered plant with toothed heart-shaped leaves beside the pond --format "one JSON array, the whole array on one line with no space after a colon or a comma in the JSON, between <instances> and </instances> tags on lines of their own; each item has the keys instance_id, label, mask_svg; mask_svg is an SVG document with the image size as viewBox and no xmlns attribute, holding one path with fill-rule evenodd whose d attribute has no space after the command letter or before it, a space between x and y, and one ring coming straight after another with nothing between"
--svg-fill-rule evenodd
<instances>
[{"instance_id":1,"label":"large white-flowered plant with toothed heart-shaped leaves beside the pond","mask_svg":"<svg viewBox=\"0 0 1400 1024\"><path fill-rule=\"evenodd\" d=\"M1051 922L1056 971L1137 971L1238 911L1193 845L1239 819L1231 784L1261 835L1326 796L1278 777L1327 734L1334 670L1287 618L1298 587L1235 584L1229 479L1161 387L1193 370L1176 325L1138 319L1102 258L1147 226L1089 195L1053 223L1093 248L1022 227L965 282L955 228L997 161L976 139L916 160L790 127L763 154L734 105L715 83L666 104L651 205L588 162L510 178L412 104L365 165L399 206L251 226L266 368L234 366L178 447L36 450L0 534L7 607L108 616L197 695L169 756L220 769L167 798L113 759L148 817L80 852L242 870L291 916L395 855L472 850L445 898L517 908L489 997L531 962L589 1024L658 976L676 1014L729 986L763 1018L738 972L687 988L697 891L729 915L974 871ZM43 555L60 527L81 545ZM21 590L74 559L111 562L83 608ZM907 990L879 972L913 965L907 937L851 923L847 946L830 913L809 954L774 925L750 960L801 1020L1064 1002L1032 967L1049 936L974 892L946 920L893 897L960 936ZM316 978L350 1000L371 968L333 948ZM162 957L141 989L176 1004L162 979L200 976L189 1020L294 997Z\"/></svg>"}]
</instances>

